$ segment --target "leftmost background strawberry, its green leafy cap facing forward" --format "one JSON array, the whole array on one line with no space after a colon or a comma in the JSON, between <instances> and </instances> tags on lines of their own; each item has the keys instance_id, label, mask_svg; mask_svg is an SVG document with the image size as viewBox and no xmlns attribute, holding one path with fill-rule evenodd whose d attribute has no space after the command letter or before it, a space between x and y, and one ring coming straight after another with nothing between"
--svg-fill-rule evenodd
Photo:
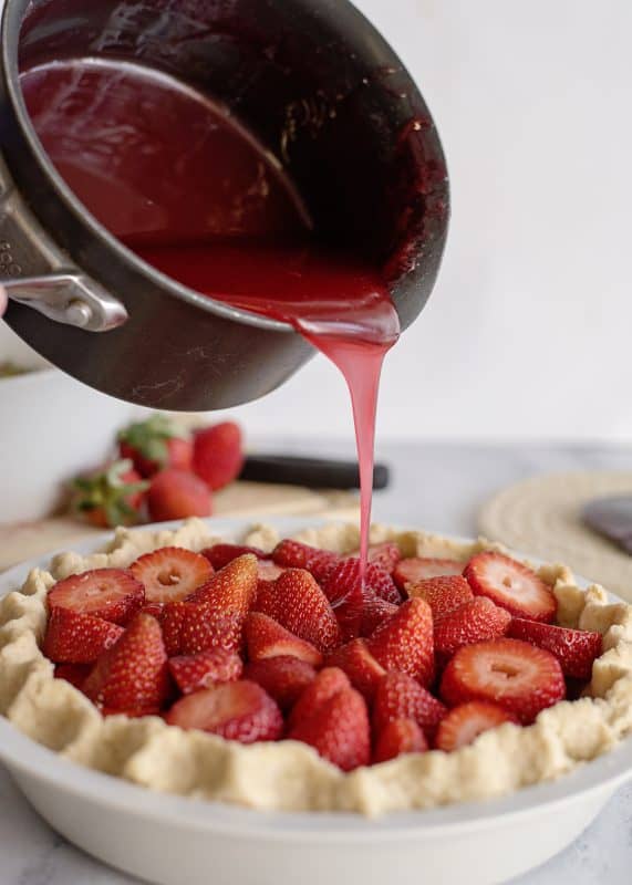
<instances>
[{"instance_id":1,"label":"leftmost background strawberry, its green leafy cap facing forward","mask_svg":"<svg viewBox=\"0 0 632 885\"><path fill-rule=\"evenodd\" d=\"M131 460L114 461L73 480L71 510L100 529L134 525L142 520L147 485Z\"/></svg>"}]
</instances>

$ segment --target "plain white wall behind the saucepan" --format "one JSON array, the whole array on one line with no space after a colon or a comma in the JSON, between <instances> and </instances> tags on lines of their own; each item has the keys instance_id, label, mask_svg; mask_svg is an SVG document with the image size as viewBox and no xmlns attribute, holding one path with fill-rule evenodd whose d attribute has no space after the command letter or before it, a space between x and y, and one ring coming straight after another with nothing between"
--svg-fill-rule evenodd
<instances>
[{"instance_id":1,"label":"plain white wall behind the saucepan","mask_svg":"<svg viewBox=\"0 0 632 885\"><path fill-rule=\"evenodd\" d=\"M632 438L632 2L356 2L417 80L453 188L380 436ZM257 434L351 420L322 357L237 414Z\"/></svg>"}]
</instances>

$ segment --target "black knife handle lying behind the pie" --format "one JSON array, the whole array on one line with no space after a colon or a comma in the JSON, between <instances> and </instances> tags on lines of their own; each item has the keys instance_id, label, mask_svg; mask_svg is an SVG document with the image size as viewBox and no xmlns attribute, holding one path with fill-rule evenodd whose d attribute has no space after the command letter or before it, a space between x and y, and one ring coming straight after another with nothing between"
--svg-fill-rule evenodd
<instances>
[{"instance_id":1,"label":"black knife handle lying behind the pie","mask_svg":"<svg viewBox=\"0 0 632 885\"><path fill-rule=\"evenodd\" d=\"M293 455L250 455L246 458L240 479L251 482L279 482L283 486L308 486L312 489L359 489L360 470L356 461L325 458L301 458ZM373 488L385 489L388 468L376 464Z\"/></svg>"}]
</instances>

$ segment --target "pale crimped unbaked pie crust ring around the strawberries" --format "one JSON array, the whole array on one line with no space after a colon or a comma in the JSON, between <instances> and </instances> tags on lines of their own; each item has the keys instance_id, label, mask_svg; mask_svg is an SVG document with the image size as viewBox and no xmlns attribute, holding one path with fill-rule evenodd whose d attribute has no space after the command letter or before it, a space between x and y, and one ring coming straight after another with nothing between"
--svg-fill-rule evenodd
<instances>
[{"instance_id":1,"label":"pale crimped unbaked pie crust ring around the strawberries","mask_svg":"<svg viewBox=\"0 0 632 885\"><path fill-rule=\"evenodd\" d=\"M341 553L358 549L354 525L301 532L300 540ZM46 593L70 574L126 568L168 544L199 551L221 539L199 520L177 531L120 529L101 553L63 553L50 571L33 569L24 585L0 601L0 714L28 737L81 766L178 795L274 811L351 811L377 815L489 799L551 781L608 752L632 733L632 606L609 603L604 590L577 586L563 565L538 568L558 601L562 626L599 631L586 697L543 710L528 728L507 723L453 753L433 750L361 768L349 774L304 743L244 746L201 731L183 731L158 717L103 718L70 683L55 679L41 653ZM256 525L244 542L271 550L276 530ZM456 543L438 535L372 527L372 541L395 541L405 556L469 559L501 550L483 539Z\"/></svg>"}]
</instances>

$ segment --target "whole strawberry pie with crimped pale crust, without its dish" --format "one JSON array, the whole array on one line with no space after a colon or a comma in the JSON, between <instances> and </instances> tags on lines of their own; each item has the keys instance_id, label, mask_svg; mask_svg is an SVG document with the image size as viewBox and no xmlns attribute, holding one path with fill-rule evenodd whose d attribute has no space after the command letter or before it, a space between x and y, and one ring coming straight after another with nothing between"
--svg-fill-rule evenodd
<instances>
[{"instance_id":1,"label":"whole strawberry pie with crimped pale crust, without its dish","mask_svg":"<svg viewBox=\"0 0 632 885\"><path fill-rule=\"evenodd\" d=\"M259 810L376 815L571 773L632 732L632 606L498 544L120 529L0 602L0 714L65 759ZM53 663L54 662L54 663Z\"/></svg>"}]
</instances>

